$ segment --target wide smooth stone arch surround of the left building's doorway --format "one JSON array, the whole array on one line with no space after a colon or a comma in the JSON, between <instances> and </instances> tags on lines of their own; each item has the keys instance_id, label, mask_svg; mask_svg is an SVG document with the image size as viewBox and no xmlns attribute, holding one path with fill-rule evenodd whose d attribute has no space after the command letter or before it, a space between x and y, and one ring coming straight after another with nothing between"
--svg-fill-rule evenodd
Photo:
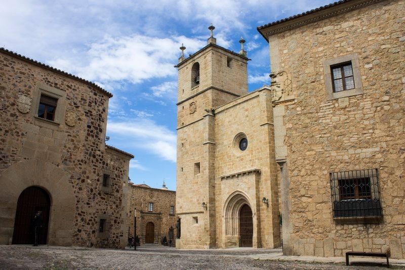
<instances>
[{"instance_id":1,"label":"wide smooth stone arch surround of the left building's doorway","mask_svg":"<svg viewBox=\"0 0 405 270\"><path fill-rule=\"evenodd\" d=\"M12 244L21 192L37 186L47 191L51 201L48 245L70 246L76 201L69 178L70 173L41 160L18 162L5 170L0 175L0 244Z\"/></svg>"}]
</instances>

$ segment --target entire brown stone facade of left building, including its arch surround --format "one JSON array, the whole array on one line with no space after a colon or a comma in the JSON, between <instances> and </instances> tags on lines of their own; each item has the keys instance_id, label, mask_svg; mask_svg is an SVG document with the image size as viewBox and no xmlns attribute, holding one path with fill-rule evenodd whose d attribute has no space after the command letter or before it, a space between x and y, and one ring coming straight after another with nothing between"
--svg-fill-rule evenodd
<instances>
[{"instance_id":1,"label":"entire brown stone facade of left building, including its arch surround","mask_svg":"<svg viewBox=\"0 0 405 270\"><path fill-rule=\"evenodd\" d=\"M125 247L124 202L133 156L105 145L112 95L93 83L0 49L0 96L0 244L15 240L20 194L36 186L50 200L47 244ZM57 100L53 121L38 117L42 96ZM106 169L108 190L102 188ZM102 216L107 232L103 236L99 234Z\"/></svg>"}]
</instances>

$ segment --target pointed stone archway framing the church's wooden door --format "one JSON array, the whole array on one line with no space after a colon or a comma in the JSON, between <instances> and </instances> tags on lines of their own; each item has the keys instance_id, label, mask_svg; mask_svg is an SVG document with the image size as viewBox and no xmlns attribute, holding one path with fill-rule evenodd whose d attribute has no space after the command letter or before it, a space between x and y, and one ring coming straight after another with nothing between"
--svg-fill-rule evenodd
<instances>
[{"instance_id":1,"label":"pointed stone archway framing the church's wooden door","mask_svg":"<svg viewBox=\"0 0 405 270\"><path fill-rule=\"evenodd\" d=\"M251 200L242 191L234 191L229 195L224 204L223 217L225 222L223 223L223 243L224 247L239 247L240 246L240 210L242 207L247 206L252 211L252 225L253 235L252 238L257 235L257 225L255 222L255 211L252 207ZM253 241L254 242L254 241ZM256 241L257 242L257 241ZM258 243L253 243L253 247L257 247Z\"/></svg>"}]
</instances>

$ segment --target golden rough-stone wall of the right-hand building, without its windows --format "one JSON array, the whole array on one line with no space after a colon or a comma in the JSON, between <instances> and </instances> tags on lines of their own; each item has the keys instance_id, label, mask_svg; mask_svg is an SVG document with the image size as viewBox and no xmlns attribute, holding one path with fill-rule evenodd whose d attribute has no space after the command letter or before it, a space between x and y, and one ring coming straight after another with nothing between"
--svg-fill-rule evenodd
<instances>
[{"instance_id":1,"label":"golden rough-stone wall of the right-hand building, without its windows","mask_svg":"<svg viewBox=\"0 0 405 270\"><path fill-rule=\"evenodd\" d=\"M292 74L295 98L275 107L286 129L291 254L405 257L404 14L404 1L384 1L270 36L272 71ZM358 55L363 94L327 100L322 63L349 54ZM329 173L373 168L382 221L336 223Z\"/></svg>"}]
</instances>

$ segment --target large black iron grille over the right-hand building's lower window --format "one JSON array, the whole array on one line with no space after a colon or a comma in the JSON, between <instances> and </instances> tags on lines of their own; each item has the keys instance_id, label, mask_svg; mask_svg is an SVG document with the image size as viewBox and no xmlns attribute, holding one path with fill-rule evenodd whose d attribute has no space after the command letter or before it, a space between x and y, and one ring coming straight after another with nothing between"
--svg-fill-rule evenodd
<instances>
[{"instance_id":1,"label":"large black iron grille over the right-hand building's lower window","mask_svg":"<svg viewBox=\"0 0 405 270\"><path fill-rule=\"evenodd\" d=\"M333 217L382 216L378 170L330 173Z\"/></svg>"}]
</instances>

